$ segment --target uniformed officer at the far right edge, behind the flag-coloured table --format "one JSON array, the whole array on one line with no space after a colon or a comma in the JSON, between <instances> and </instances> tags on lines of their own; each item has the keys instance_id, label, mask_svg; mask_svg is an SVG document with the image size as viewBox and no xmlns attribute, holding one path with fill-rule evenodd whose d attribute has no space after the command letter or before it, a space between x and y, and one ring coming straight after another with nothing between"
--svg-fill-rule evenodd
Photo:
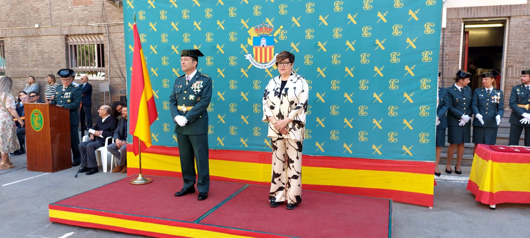
<instances>
[{"instance_id":1,"label":"uniformed officer at the far right edge, behind the flag-coloured table","mask_svg":"<svg viewBox=\"0 0 530 238\"><path fill-rule=\"evenodd\" d=\"M521 84L511 88L509 105L510 139L509 145L519 145L523 128L525 147L530 147L530 70L521 71Z\"/></svg>"}]
</instances>

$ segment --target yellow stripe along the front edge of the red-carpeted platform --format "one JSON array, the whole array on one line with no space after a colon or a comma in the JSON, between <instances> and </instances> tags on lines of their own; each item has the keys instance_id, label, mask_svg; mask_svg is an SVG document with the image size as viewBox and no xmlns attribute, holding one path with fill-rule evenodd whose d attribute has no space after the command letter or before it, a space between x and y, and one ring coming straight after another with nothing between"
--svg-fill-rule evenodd
<instances>
[{"instance_id":1,"label":"yellow stripe along the front edge of the red-carpeted platform","mask_svg":"<svg viewBox=\"0 0 530 238\"><path fill-rule=\"evenodd\" d=\"M50 212L50 217L53 217L53 218L66 219L69 221L76 221L76 222L89 222L89 223L94 223L94 224L117 226L117 227L122 227L122 228L133 229L133 230L156 232L156 233L169 234L169 235L180 235L180 236L186 236L186 237L223 237L223 238L224 237L227 237L227 238L249 237L249 236L231 235L231 234L225 234L225 233L213 232L213 231L198 230L198 229L193 229L193 228L161 225L161 224L148 223L148 222L130 221L127 219L119 219L119 218L113 218L113 217L107 217L107 216L65 212L63 210L50 209L49 212Z\"/></svg>"}]
</instances>

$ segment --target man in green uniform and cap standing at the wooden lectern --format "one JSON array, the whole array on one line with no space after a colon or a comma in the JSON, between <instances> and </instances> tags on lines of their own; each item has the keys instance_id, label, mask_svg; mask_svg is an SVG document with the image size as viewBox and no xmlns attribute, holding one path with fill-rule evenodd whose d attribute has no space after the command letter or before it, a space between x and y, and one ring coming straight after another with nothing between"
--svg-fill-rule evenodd
<instances>
[{"instance_id":1,"label":"man in green uniform and cap standing at the wooden lectern","mask_svg":"<svg viewBox=\"0 0 530 238\"><path fill-rule=\"evenodd\" d=\"M61 69L57 75L63 81L63 85L57 86L55 98L50 104L55 104L70 110L70 143L72 144L72 154L74 162L72 167L81 164L81 154L79 153L79 134L77 128L79 125L79 105L81 104L81 90L72 85L75 78L75 72L72 69Z\"/></svg>"}]
</instances>

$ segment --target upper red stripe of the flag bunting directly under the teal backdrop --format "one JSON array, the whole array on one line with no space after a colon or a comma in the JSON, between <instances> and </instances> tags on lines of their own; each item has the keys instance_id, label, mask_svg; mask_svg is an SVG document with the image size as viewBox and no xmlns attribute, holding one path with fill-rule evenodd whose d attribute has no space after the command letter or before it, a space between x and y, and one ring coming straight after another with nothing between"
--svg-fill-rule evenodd
<instances>
[{"instance_id":1,"label":"upper red stripe of the flag bunting directly under the teal backdrop","mask_svg":"<svg viewBox=\"0 0 530 238\"><path fill-rule=\"evenodd\" d=\"M127 151L131 151L133 149L131 147L132 145L128 144L127 146ZM162 147L160 145L153 145L152 147L145 150L142 149L142 151L146 153L163 154L175 157L179 157L180 155L178 147ZM269 164L272 153L258 151L209 150L209 155L210 159L215 160ZM302 155L302 166L333 169L423 173L426 175L431 175L434 173L434 163L425 161L379 160Z\"/></svg>"}]
</instances>

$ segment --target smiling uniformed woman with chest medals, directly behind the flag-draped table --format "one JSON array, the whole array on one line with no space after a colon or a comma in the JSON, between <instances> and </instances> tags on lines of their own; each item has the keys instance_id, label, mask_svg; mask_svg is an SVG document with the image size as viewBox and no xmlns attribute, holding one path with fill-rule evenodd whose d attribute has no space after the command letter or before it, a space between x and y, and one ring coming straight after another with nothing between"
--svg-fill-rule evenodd
<instances>
[{"instance_id":1,"label":"smiling uniformed woman with chest medals, directly behind the flag-draped table","mask_svg":"<svg viewBox=\"0 0 530 238\"><path fill-rule=\"evenodd\" d=\"M475 89L473 93L473 154L477 144L495 144L497 141L500 118L504 114L504 96L501 90L495 89L497 75L499 73L495 70L481 74L484 87Z\"/></svg>"}]
</instances>

